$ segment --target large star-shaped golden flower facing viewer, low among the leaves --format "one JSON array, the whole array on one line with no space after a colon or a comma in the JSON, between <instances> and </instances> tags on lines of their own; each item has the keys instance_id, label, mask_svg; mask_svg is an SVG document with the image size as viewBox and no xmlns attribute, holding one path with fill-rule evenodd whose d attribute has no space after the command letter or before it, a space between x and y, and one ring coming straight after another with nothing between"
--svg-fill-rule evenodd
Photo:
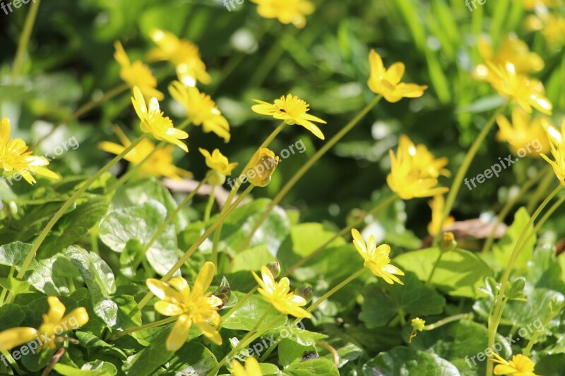
<instances>
[{"instance_id":1,"label":"large star-shaped golden flower facing viewer, low among the leaves","mask_svg":"<svg viewBox=\"0 0 565 376\"><path fill-rule=\"evenodd\" d=\"M169 283L153 278L145 281L150 291L160 298L160 301L155 303L155 310L161 315L178 316L167 338L167 351L177 351L184 345L193 323L210 341L217 345L222 344L222 337L216 329L220 325L218 307L222 305L222 299L206 292L214 273L214 264L205 262L196 276L192 291L182 277L174 277Z\"/></svg>"}]
</instances>

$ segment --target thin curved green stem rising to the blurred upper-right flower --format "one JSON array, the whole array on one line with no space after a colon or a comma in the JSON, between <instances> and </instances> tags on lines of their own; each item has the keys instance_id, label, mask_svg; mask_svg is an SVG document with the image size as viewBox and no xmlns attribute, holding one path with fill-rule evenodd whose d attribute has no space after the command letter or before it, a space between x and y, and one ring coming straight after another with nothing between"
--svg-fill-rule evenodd
<instances>
[{"instance_id":1,"label":"thin curved green stem rising to the blurred upper-right flower","mask_svg":"<svg viewBox=\"0 0 565 376\"><path fill-rule=\"evenodd\" d=\"M484 138L487 137L492 126L496 123L496 116L502 113L506 109L508 104L504 104L504 106L500 107L487 121L487 124L482 128L475 141L472 143L470 149L468 150L467 154L465 155L465 159L463 159L463 164L459 167L455 178L453 178L453 183L451 184L451 188L449 189L449 193L447 195L446 206L444 208L444 214L441 216L441 223L439 224L439 228L444 228L444 223L446 218L448 217L451 209L453 208L453 204L455 204L455 199L457 198L457 193L459 193L459 188L461 188L461 184L463 183L463 179L465 178L465 174L469 170L472 160L475 158L475 155L479 151L479 147L482 145ZM439 237L441 236L441 231L439 231L436 236L434 236L434 241L432 244L436 244L439 241Z\"/></svg>"}]
</instances>

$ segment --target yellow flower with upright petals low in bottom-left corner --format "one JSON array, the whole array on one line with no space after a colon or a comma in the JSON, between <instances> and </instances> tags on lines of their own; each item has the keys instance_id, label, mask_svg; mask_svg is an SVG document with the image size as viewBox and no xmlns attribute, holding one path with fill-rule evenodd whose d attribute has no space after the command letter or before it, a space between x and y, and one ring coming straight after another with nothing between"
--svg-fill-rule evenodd
<instances>
[{"instance_id":1,"label":"yellow flower with upright petals low in bottom-left corner","mask_svg":"<svg viewBox=\"0 0 565 376\"><path fill-rule=\"evenodd\" d=\"M55 336L83 327L88 322L88 313L84 307L76 308L63 316L66 308L57 296L49 296L47 303L49 303L49 311L47 315L43 315L43 323L39 329L39 334L44 338L54 339ZM47 346L55 348L55 342L49 341Z\"/></svg>"}]
</instances>

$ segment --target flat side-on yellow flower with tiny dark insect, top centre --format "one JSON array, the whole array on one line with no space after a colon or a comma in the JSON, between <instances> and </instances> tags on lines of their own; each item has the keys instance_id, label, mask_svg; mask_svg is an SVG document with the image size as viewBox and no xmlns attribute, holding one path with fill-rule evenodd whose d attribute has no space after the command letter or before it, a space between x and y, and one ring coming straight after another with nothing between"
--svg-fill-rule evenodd
<instances>
[{"instance_id":1,"label":"flat side-on yellow flower with tiny dark insect, top centre","mask_svg":"<svg viewBox=\"0 0 565 376\"><path fill-rule=\"evenodd\" d=\"M295 97L292 94L289 94L286 97L283 95L280 99L275 99L275 104L270 104L257 99L253 100L258 104L251 107L251 109L257 114L273 116L275 119L284 120L285 123L290 126L299 124L300 126L307 128L307 130L311 133L314 133L317 138L321 138L322 140L324 139L322 131L320 131L320 128L312 123L312 121L323 124L326 124L326 121L307 114L309 111L309 104L304 102L302 99L299 99L299 97Z\"/></svg>"}]
</instances>

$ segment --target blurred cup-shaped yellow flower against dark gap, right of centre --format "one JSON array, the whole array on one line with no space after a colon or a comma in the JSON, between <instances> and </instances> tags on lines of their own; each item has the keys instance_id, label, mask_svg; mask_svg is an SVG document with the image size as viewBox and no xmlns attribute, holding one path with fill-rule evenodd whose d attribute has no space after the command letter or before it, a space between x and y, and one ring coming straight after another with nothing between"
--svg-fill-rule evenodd
<instances>
[{"instance_id":1,"label":"blurred cup-shaped yellow flower against dark gap, right of centre","mask_svg":"<svg viewBox=\"0 0 565 376\"><path fill-rule=\"evenodd\" d=\"M446 158L435 159L425 145L415 146L410 138L400 135L396 157L391 157L391 173L386 176L388 186L403 200L415 197L442 195L448 188L436 187L439 175L449 176L444 169Z\"/></svg>"}]
</instances>

